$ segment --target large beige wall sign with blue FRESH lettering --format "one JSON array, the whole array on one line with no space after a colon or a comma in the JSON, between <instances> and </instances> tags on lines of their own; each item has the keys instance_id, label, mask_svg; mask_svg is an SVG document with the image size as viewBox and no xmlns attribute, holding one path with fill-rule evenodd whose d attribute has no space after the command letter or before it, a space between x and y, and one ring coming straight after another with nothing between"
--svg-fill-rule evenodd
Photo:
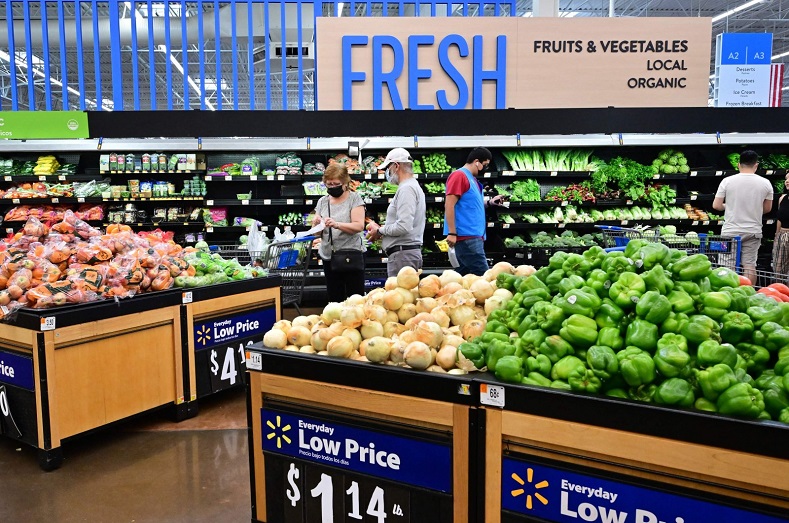
<instances>
[{"instance_id":1,"label":"large beige wall sign with blue FRESH lettering","mask_svg":"<svg viewBox=\"0 0 789 523\"><path fill-rule=\"evenodd\" d=\"M376 20L317 20L319 109L707 106L709 18Z\"/></svg>"}]
</instances>

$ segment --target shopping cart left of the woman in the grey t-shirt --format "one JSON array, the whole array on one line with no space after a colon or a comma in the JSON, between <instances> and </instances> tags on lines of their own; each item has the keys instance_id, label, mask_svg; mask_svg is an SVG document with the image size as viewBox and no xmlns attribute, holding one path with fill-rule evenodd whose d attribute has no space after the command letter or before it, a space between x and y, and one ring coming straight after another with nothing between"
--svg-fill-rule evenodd
<instances>
[{"instance_id":1,"label":"shopping cart left of the woman in the grey t-shirt","mask_svg":"<svg viewBox=\"0 0 789 523\"><path fill-rule=\"evenodd\" d=\"M312 257L314 236L269 244L265 252L249 253L255 265L282 278L281 305L293 305L301 315L301 297Z\"/></svg>"}]
</instances>

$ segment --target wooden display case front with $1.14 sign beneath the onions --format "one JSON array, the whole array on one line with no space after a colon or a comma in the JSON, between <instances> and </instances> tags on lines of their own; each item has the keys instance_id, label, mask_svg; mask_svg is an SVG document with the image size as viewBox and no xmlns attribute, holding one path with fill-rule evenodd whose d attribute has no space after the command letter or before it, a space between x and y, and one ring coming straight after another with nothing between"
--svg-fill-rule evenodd
<instances>
[{"instance_id":1,"label":"wooden display case front with $1.14 sign beneath the onions","mask_svg":"<svg viewBox=\"0 0 789 523\"><path fill-rule=\"evenodd\" d=\"M475 385L247 350L252 519L477 521Z\"/></svg>"}]
</instances>

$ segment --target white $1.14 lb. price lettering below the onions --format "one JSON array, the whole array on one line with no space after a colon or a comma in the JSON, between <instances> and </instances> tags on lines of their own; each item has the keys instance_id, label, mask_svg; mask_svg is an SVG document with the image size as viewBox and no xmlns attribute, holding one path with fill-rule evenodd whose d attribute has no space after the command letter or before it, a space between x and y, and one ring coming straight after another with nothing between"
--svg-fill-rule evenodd
<instances>
[{"instance_id":1,"label":"white $1.14 lb. price lettering below the onions","mask_svg":"<svg viewBox=\"0 0 789 523\"><path fill-rule=\"evenodd\" d=\"M388 516L394 516L395 521L402 521L408 519L408 514L406 511L408 510L407 506L403 506L400 503L394 503L391 507L391 512L387 512L387 505L385 501L385 491L380 486L375 486L372 493L369 496L369 501L367 502L366 508L366 515L370 516L369 518L365 518L362 513L362 495L360 494L360 485L357 481L350 481L350 485L348 489L344 489L344 487L340 487L345 490L345 509L348 509L347 512L347 519L345 519L342 512L335 511L335 493L334 493L334 482L335 479L339 479L339 482L342 483L342 476L340 478L335 478L330 474L321 473L320 480L317 484L309 488L309 485L297 481L300 479L300 476L303 472L297 467L294 463L290 464L290 469L287 472L287 483L285 489L285 496L288 498L288 502L291 507L296 507L302 501L302 492L299 488L299 485L303 485L305 491L308 492L311 499L314 499L320 503L320 523L334 523L335 514L341 518L339 521L348 521L348 520L366 520L370 521L377 521L378 523L384 523ZM308 474L309 476L309 474ZM306 479L306 478L305 478ZM348 483L345 483L348 485ZM366 496L365 496L366 497ZM287 503L287 502L286 502ZM341 507L340 510L344 511ZM316 518L308 518L309 521L317 521Z\"/></svg>"}]
</instances>

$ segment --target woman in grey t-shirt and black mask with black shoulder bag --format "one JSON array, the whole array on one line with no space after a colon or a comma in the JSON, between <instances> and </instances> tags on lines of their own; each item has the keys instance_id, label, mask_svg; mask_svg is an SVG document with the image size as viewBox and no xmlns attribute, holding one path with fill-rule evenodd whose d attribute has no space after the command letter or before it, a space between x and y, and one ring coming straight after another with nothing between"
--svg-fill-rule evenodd
<instances>
[{"instance_id":1,"label":"woman in grey t-shirt and black mask with black shoulder bag","mask_svg":"<svg viewBox=\"0 0 789 523\"><path fill-rule=\"evenodd\" d=\"M344 301L353 294L364 294L364 269L358 271L332 271L332 252L358 250L364 252L364 202L349 190L351 177L344 165L330 164L323 173L323 183L328 196L318 200L312 225L323 222L318 256L323 260L326 292L330 302Z\"/></svg>"}]
</instances>

